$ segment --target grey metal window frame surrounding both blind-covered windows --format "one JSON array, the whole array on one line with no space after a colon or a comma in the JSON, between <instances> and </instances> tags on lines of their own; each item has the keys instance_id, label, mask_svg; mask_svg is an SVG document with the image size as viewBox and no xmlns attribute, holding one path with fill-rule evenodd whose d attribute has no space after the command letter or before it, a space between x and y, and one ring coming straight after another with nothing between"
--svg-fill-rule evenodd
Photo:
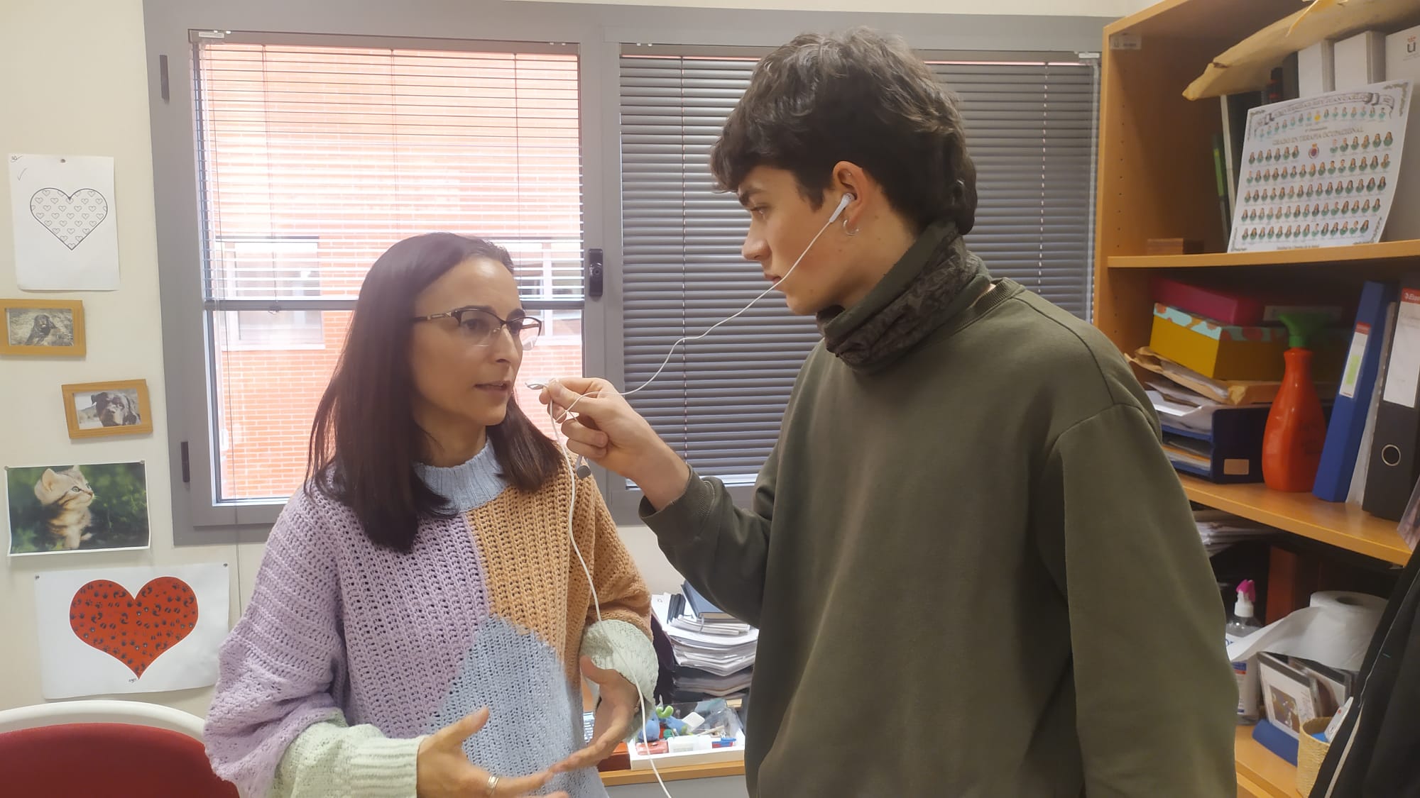
<instances>
[{"instance_id":1,"label":"grey metal window frame surrounding both blind-covered windows","mask_svg":"<svg viewBox=\"0 0 1420 798\"><path fill-rule=\"evenodd\" d=\"M1075 16L758 11L498 0L460 4L145 0L175 542L261 541L284 504L216 504L210 490L214 429L206 378L203 275L197 268L202 236L193 126L192 38L197 31L268 31L284 43L375 37L385 45L527 41L575 47L581 57L582 246L605 251L605 294L601 300L586 300L584 310L584 371L621 385L618 81L623 43L768 48L804 30L869 26L900 31L923 51L1074 53L1098 50L1109 21ZM604 486L609 484L605 473L598 477ZM628 507L632 503L615 497L613 501L618 521L635 523L635 507Z\"/></svg>"}]
</instances>

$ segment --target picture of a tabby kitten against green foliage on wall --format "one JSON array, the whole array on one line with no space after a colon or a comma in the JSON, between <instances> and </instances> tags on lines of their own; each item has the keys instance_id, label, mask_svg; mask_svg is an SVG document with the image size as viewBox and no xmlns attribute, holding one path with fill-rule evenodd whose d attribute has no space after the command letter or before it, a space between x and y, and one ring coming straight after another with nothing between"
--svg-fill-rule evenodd
<instances>
[{"instance_id":1,"label":"picture of a tabby kitten against green foliage on wall","mask_svg":"<svg viewBox=\"0 0 1420 798\"><path fill-rule=\"evenodd\" d=\"M6 469L10 555L148 548L142 463Z\"/></svg>"}]
</instances>

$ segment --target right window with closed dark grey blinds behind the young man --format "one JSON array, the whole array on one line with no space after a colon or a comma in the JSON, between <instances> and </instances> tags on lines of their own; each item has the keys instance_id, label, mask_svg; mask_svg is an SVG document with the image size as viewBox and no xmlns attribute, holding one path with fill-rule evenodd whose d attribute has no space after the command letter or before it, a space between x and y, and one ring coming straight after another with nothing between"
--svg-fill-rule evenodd
<instances>
[{"instance_id":1,"label":"right window with closed dark grey blinds behind the young man","mask_svg":"<svg viewBox=\"0 0 1420 798\"><path fill-rule=\"evenodd\" d=\"M626 388L683 335L764 290L740 256L748 216L716 193L709 153L748 87L753 55L621 58L622 305ZM968 236L997 277L1086 317L1091 300L1096 68L1086 62L929 57L961 101L980 206ZM683 345L629 400L701 474L751 483L819 335L767 297Z\"/></svg>"}]
</instances>

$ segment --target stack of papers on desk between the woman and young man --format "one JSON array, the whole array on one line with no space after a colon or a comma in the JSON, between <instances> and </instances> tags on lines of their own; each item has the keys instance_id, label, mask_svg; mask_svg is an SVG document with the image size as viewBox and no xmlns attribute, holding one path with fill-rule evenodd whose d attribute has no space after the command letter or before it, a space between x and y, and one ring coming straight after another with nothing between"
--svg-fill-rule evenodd
<instances>
[{"instance_id":1,"label":"stack of papers on desk between the woman and young man","mask_svg":"<svg viewBox=\"0 0 1420 798\"><path fill-rule=\"evenodd\" d=\"M672 603L679 608L674 616ZM701 619L670 594L652 596L650 606L676 652L676 700L723 697L750 686L758 629L733 618Z\"/></svg>"}]
</instances>

